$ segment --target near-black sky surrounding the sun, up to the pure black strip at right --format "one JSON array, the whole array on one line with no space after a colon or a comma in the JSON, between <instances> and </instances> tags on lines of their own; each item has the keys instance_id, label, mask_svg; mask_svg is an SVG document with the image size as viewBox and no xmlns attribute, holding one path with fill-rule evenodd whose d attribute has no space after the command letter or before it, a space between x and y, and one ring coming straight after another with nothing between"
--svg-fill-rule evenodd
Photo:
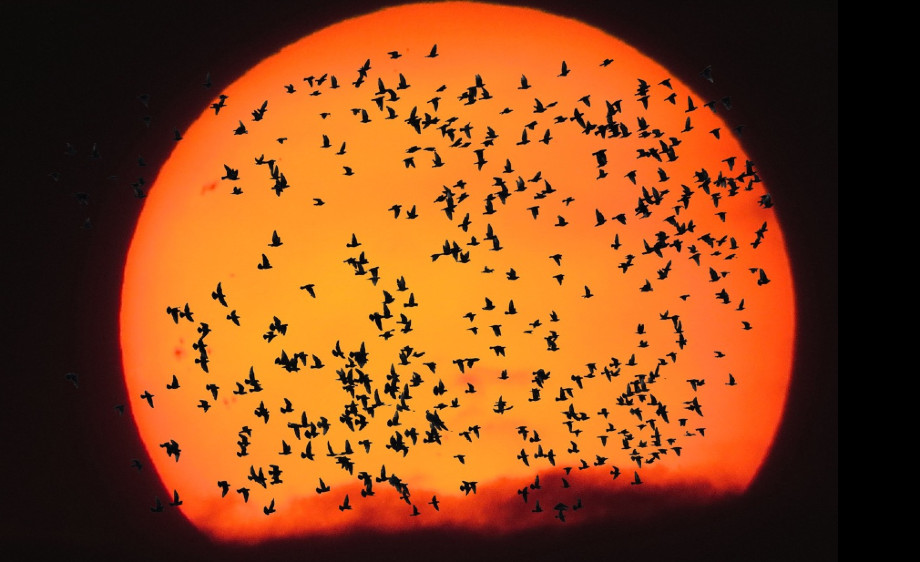
<instances>
[{"instance_id":1,"label":"near-black sky surrounding the sun, up to the pure black strip at right","mask_svg":"<svg viewBox=\"0 0 920 562\"><path fill-rule=\"evenodd\" d=\"M519 2L510 2L518 4ZM776 201L796 278L798 334L787 415L750 492L652 522L505 539L444 534L332 539L227 550L162 494L128 416L117 310L140 211L128 180L146 176L215 91L307 33L387 5L302 2L20 2L4 8L5 237L0 544L123 559L247 559L298 553L468 559L603 555L649 560L837 558L837 3L834 1L531 2L606 29L701 93L731 95L732 119ZM714 85L697 73L712 65ZM214 88L200 87L210 71ZM149 93L145 110L137 96ZM148 129L141 118L152 117ZM66 143L80 151L64 155ZM87 158L99 143L103 157ZM60 172L60 182L48 177ZM11 174L9 172L12 172ZM117 175L118 180L108 179ZM74 192L89 194L82 207ZM94 228L82 230L90 217ZM8 252L8 253L7 253ZM764 353L771 350L764 349ZM75 389L64 374L80 374ZM138 457L148 468L128 466ZM6 551L5 551L6 552ZM431 559L429 556L424 556ZM452 559L448 556L448 559Z\"/></svg>"}]
</instances>

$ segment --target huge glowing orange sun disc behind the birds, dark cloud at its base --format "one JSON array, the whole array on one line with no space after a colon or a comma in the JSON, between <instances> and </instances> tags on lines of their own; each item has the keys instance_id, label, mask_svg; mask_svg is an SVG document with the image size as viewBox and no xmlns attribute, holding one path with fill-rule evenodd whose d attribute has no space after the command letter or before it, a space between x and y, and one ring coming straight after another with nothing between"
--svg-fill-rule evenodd
<instances>
[{"instance_id":1,"label":"huge glowing orange sun disc behind the birds, dark cloud at its base","mask_svg":"<svg viewBox=\"0 0 920 562\"><path fill-rule=\"evenodd\" d=\"M437 56L428 56L434 45ZM563 64L569 72L560 76ZM180 492L198 528L236 541L360 527L502 532L558 523L559 503L567 521L578 521L643 495L695 490L704 501L751 482L782 414L793 290L764 184L720 103L710 111L666 69L583 23L471 3L344 21L217 93L224 106L183 133L149 192L121 308L134 419L164 485ZM619 107L609 118L605 101ZM407 122L413 112L419 132ZM234 134L241 124L245 134ZM476 150L487 161L481 169ZM257 158L274 162L276 179ZM635 183L626 177L633 171ZM288 187L277 194L281 174ZM270 246L273 232L280 245ZM349 247L353 235L360 245ZM263 255L270 269L258 267ZM646 282L651 290L640 290ZM212 298L218 283L226 307ZM722 290L727 303L717 298ZM418 306L406 306L410 295ZM484 310L486 298L493 310ZM186 303L191 320L164 314ZM227 319L232 310L239 326ZM270 327L275 317L284 333ZM202 340L207 372L195 361ZM334 355L337 345L343 356ZM294 358L300 352L303 361ZM276 361L282 353L297 370ZM476 361L461 370L459 359ZM260 392L244 382L250 368ZM540 370L548 374L542 389ZM353 396L340 373L359 379ZM388 393L391 373L399 380ZM179 388L167 389L173 375ZM694 389L690 379L705 384ZM139 398L145 391L153 408ZM373 408L375 394L382 405ZM688 409L694 400L702 415ZM255 414L260 404L267 421ZM352 428L342 421L349 405ZM426 414L435 412L440 445L425 442L437 425ZM308 437L323 418L328 431ZM239 456L244 426L248 454ZM405 455L388 448L396 433ZM161 447L170 440L178 460ZM290 455L280 454L282 441ZM301 456L308 443L313 460ZM271 465L280 483L269 483ZM247 478L251 467L263 470L264 488ZM382 467L408 494L377 482ZM362 495L361 472L372 496ZM531 487L538 474L542 486ZM631 484L637 474L640 486ZM328 493L317 493L320 479ZM218 481L230 486L225 497ZM464 482L476 491L461 490ZM250 490L248 503L240 488ZM346 495L351 509L340 509ZM537 500L543 512L533 514Z\"/></svg>"}]
</instances>

